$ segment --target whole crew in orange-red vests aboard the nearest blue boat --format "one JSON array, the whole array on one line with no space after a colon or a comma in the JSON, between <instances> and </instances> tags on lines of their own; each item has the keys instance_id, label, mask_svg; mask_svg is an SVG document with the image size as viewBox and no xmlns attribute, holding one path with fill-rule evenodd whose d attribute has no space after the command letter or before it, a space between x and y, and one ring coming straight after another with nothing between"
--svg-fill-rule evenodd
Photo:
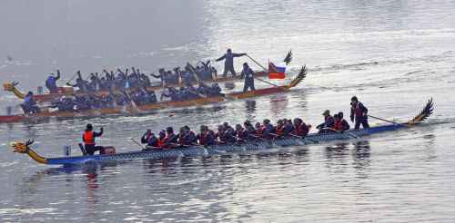
<instances>
[{"instance_id":1,"label":"whole crew in orange-red vests aboard the nearest blue boat","mask_svg":"<svg viewBox=\"0 0 455 223\"><path fill-rule=\"evenodd\" d=\"M368 109L359 102L356 96L351 98L350 120L355 122L354 129L358 130L360 124L363 128L369 128L367 112ZM324 122L317 126L319 133L343 133L349 130L349 123L343 118L343 112L340 111L331 116L330 111L327 110L322 115ZM217 127L217 131L210 130L206 125L201 125L197 134L188 126L180 127L177 133L172 127L167 127L166 130L159 131L157 136L148 129L141 137L141 142L145 144L144 150L180 149L191 146L207 147L213 144L270 141L274 138L283 137L305 138L309 129L311 129L311 125L300 118L278 120L276 126L268 119L262 123L256 122L255 125L251 121L244 121L243 125L236 124L235 128L224 122ZM101 131L95 132L92 125L87 124L83 136L87 154L93 155L96 150L99 150L100 154L104 153L103 147L95 146L95 138L102 134L103 128Z\"/></svg>"}]
</instances>

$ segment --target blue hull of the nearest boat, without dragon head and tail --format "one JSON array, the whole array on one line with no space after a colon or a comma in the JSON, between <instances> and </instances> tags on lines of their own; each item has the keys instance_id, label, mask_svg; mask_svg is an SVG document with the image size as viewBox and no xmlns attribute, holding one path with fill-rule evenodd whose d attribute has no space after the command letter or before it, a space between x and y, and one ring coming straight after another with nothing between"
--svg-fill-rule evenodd
<instances>
[{"instance_id":1,"label":"blue hull of the nearest boat, without dragon head and tail","mask_svg":"<svg viewBox=\"0 0 455 223\"><path fill-rule=\"evenodd\" d=\"M84 164L87 162L108 162L116 160L143 160L155 158L177 158L177 157L200 157L210 156L215 154L238 153L248 150L265 150L271 148L279 148L293 145L303 145L314 143L312 141L335 141L343 139L353 139L353 136L362 137L370 134L375 134L383 131L394 131L403 128L404 125L384 125L373 127L365 130L346 131L344 134L334 132L325 134L309 134L306 139L291 137L286 139L273 139L270 141L254 141L254 143L238 143L235 145L217 144L207 148L190 147L186 149L171 149L171 150L151 150L117 153L111 155L95 155L95 156L78 156L78 157L62 157L48 158L47 164L66 165L66 164Z\"/></svg>"}]
</instances>

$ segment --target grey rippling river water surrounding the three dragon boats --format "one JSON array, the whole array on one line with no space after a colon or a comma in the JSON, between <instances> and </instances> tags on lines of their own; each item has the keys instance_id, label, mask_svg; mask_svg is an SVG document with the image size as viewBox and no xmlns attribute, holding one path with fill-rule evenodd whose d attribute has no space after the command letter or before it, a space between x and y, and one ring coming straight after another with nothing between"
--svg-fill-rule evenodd
<instances>
[{"instance_id":1,"label":"grey rippling river water surrounding the three dragon boats","mask_svg":"<svg viewBox=\"0 0 455 223\"><path fill-rule=\"evenodd\" d=\"M287 94L91 119L105 126L99 143L119 151L169 125L297 116L315 125L325 109L348 112L354 94L391 120L410 120L430 97L435 113L420 128L356 141L76 168L36 164L9 142L35 139L45 157L76 152L88 120L1 124L0 221L453 222L454 19L453 1L1 1L0 82L23 92L53 69L61 83L77 70L152 72L227 47L261 63L293 49L290 74L308 65ZM0 96L1 112L19 103Z\"/></svg>"}]
</instances>

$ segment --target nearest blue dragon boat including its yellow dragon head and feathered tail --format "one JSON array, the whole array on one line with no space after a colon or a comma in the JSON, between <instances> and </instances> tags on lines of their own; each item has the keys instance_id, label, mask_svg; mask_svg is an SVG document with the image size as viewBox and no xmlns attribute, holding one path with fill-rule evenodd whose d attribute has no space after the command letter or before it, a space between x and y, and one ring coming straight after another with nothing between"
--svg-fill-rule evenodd
<instances>
[{"instance_id":1,"label":"nearest blue dragon boat including its yellow dragon head and feathered tail","mask_svg":"<svg viewBox=\"0 0 455 223\"><path fill-rule=\"evenodd\" d=\"M248 152L250 150L269 150L279 147L287 147L293 145L304 145L307 143L320 143L322 141L348 140L359 137L365 137L372 134L396 131L399 129L408 129L414 126L419 126L421 121L426 120L433 111L433 102L429 100L426 106L420 111L420 114L414 117L411 121L403 123L395 123L389 125L380 125L369 129L351 130L343 133L317 133L308 134L305 138L289 137L281 139L253 141L253 142L238 142L236 144L215 144L212 146L191 146L184 149L168 149L168 150L149 150L149 151L132 151L116 154L93 155L93 156L73 156L59 158L45 158L38 155L30 148L33 141L13 142L11 147L14 152L29 155L33 160L50 165L77 165L87 162L112 162L116 160L144 160L144 159L167 159L177 157L194 157L194 156L211 156L217 154L236 154Z\"/></svg>"}]
</instances>

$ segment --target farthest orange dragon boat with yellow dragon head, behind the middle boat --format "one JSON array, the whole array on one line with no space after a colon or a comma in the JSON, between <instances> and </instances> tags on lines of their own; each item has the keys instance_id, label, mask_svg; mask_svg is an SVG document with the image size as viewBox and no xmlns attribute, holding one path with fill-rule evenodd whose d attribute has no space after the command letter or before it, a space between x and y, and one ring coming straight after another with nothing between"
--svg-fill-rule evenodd
<instances>
[{"instance_id":1,"label":"farthest orange dragon boat with yellow dragon head, behind the middle boat","mask_svg":"<svg viewBox=\"0 0 455 223\"><path fill-rule=\"evenodd\" d=\"M268 73L265 72L265 71L255 72L255 76L256 77L266 76L267 74ZM201 82L204 82L204 83L210 83L210 82L233 82L233 81L238 81L239 80L238 77L239 77L238 75L229 76L229 77L218 76L217 79L201 81ZM196 83L197 82L191 82L191 84L196 84ZM5 92L13 92L17 98L25 99L25 94L23 92L20 92L19 90L17 90L17 88L15 87L15 86L17 86L17 84L19 84L19 82L7 82L7 83L4 83L3 84L4 91ZM182 87L185 84L187 84L187 82L172 84L172 86L174 86L174 87ZM147 87L146 88L147 91L157 91L157 90L163 89L163 82L152 82L151 85L152 85L151 87ZM125 91L129 93L129 92L132 91L132 89L126 89ZM114 90L113 92L114 93L119 93L120 91L119 90ZM63 97L63 96L66 96L66 97L72 96L74 93L75 93L75 90L74 90L73 87L59 87L59 92L57 92L57 93L35 94L34 98L35 98L36 101L39 101L39 102L49 102L49 101L52 101L53 99L60 98L60 97ZM109 91L102 90L102 91L96 91L96 92L93 92L93 93L96 96L101 96L103 94L104 95L109 94ZM88 92L76 92L76 95L77 96L86 96L86 95L88 95Z\"/></svg>"}]
</instances>

